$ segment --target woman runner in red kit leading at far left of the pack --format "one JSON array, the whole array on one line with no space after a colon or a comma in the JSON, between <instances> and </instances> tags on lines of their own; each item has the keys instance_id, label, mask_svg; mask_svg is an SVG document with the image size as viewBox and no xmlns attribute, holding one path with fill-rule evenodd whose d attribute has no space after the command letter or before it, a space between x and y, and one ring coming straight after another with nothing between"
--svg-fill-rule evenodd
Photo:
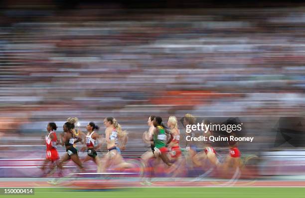
<instances>
[{"instance_id":1,"label":"woman runner in red kit leading at far left of the pack","mask_svg":"<svg viewBox=\"0 0 305 198\"><path fill-rule=\"evenodd\" d=\"M55 167L55 164L58 165L58 152L56 149L57 145L57 137L55 130L57 129L57 126L54 122L50 122L47 125L47 131L49 132L48 135L45 136L45 144L46 144L46 158L43 162L43 165L41 167L41 170L45 170L46 165L51 163L50 171L52 171ZM49 172L50 172L49 171ZM47 172L46 174L48 174Z\"/></svg>"}]
</instances>

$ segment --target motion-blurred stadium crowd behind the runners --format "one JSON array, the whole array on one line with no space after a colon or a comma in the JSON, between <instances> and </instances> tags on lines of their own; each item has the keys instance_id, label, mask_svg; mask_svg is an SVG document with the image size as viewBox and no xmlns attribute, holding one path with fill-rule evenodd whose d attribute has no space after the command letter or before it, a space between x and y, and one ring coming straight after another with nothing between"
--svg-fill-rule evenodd
<instances>
[{"instance_id":1,"label":"motion-blurred stadium crowd behind the runners","mask_svg":"<svg viewBox=\"0 0 305 198\"><path fill-rule=\"evenodd\" d=\"M247 123L245 134L255 141L239 148L260 157L261 176L305 175L305 3L2 0L0 6L1 176L22 172L16 167L24 162L10 161L16 167L9 168L9 158L45 156L50 121L60 133L68 117L78 117L83 131L94 121L103 134L103 119L116 117L129 133L123 156L139 157L148 149L142 134L150 115L167 122L185 113ZM290 142L281 128L293 131Z\"/></svg>"}]
</instances>

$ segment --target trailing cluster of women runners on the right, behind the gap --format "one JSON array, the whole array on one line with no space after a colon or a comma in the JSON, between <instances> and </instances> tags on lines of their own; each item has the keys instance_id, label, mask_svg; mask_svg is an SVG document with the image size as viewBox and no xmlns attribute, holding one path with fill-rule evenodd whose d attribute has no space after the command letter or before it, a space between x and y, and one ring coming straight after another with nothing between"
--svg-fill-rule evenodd
<instances>
[{"instance_id":1,"label":"trailing cluster of women runners on the right, behind the gap","mask_svg":"<svg viewBox=\"0 0 305 198\"><path fill-rule=\"evenodd\" d=\"M196 117L191 114L185 114L183 119L183 126L188 124L195 124ZM209 120L202 120L202 122L209 123ZM204 143L204 149L200 152L197 148L196 142L185 141L185 147L180 147L180 131L177 126L177 118L175 116L169 116L167 121L167 126L164 126L161 117L150 116L148 119L148 125L150 126L148 132L144 132L143 139L146 143L151 143L152 151L147 151L142 155L143 162L148 166L148 160L150 158L156 158L155 163L152 167L159 164L160 161L164 162L167 166L180 166L183 163L181 154L187 153L187 160L191 161L193 167L205 167L206 162L210 162L214 169L222 169L226 171L228 168L238 169L241 165L240 156L241 153L238 149L237 142L228 142L229 154L225 157L224 161L220 163L216 150L212 147L212 142L206 141ZM213 135L212 131L207 131L203 133L204 136L209 139L209 136ZM182 134L183 135L183 134ZM190 135L195 137L195 132L185 133L184 135ZM175 173L179 171L177 168ZM173 171L171 171L173 172Z\"/></svg>"}]
</instances>

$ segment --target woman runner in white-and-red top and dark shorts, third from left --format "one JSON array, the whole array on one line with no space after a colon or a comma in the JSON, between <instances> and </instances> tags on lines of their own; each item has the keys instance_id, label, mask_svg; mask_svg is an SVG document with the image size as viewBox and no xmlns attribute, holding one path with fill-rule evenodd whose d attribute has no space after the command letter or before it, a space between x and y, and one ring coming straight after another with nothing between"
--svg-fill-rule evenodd
<instances>
[{"instance_id":1,"label":"woman runner in white-and-red top and dark shorts, third from left","mask_svg":"<svg viewBox=\"0 0 305 198\"><path fill-rule=\"evenodd\" d=\"M86 128L88 131L86 135L86 146L84 146L81 150L85 151L85 149L87 148L88 155L83 160L83 163L89 160L93 160L94 163L97 165L97 172L99 173L102 169L102 164L96 152L97 148L99 148L99 145L97 145L96 143L97 140L100 139L100 135L95 131L99 130L99 126L96 125L94 122L89 122Z\"/></svg>"}]
</instances>

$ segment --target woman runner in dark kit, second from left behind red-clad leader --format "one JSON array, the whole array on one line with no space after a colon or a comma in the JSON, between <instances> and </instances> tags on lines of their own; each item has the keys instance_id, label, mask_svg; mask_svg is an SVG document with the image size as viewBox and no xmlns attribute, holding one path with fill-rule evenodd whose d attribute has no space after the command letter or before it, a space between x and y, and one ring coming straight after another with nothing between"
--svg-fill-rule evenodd
<instances>
[{"instance_id":1,"label":"woman runner in dark kit, second from left behind red-clad leader","mask_svg":"<svg viewBox=\"0 0 305 198\"><path fill-rule=\"evenodd\" d=\"M72 132L73 128L74 124L70 122L66 122L63 125L64 133L61 134L61 144L65 145L67 153L62 157L58 167L62 169L63 163L71 159L80 168L80 170L84 172L84 167L78 157L78 151L75 147L73 147L73 144L80 142L82 139L74 135Z\"/></svg>"}]
</instances>

